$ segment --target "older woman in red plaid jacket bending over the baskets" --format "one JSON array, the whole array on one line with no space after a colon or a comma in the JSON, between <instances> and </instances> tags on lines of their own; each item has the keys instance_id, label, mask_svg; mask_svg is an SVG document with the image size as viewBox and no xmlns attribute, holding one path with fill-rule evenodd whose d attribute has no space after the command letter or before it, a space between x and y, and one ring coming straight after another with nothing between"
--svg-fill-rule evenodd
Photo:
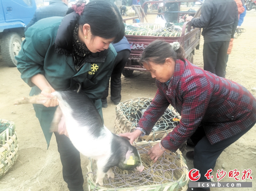
<instances>
[{"instance_id":1,"label":"older woman in red plaid jacket bending over the baskets","mask_svg":"<svg viewBox=\"0 0 256 191\"><path fill-rule=\"evenodd\" d=\"M156 40L145 48L140 63L156 78L158 90L135 131L120 136L133 143L149 134L171 104L181 120L148 154L155 162L165 149L175 152L189 137L196 137L188 156L201 173L198 182L210 182L204 175L214 169L220 153L256 123L256 99L245 87L193 65L184 55L178 42Z\"/></svg>"}]
</instances>

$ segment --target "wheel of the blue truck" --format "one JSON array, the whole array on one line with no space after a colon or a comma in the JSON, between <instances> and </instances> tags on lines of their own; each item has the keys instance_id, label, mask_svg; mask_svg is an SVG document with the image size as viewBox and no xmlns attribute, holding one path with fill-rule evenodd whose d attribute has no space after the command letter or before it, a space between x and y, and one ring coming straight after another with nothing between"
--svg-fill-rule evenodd
<instances>
[{"instance_id":1,"label":"wheel of the blue truck","mask_svg":"<svg viewBox=\"0 0 256 191\"><path fill-rule=\"evenodd\" d=\"M18 55L21 50L21 42L21 36L17 32L10 32L3 35L1 42L1 52L3 60L7 66L17 66L17 60L15 60L15 56Z\"/></svg>"}]
</instances>

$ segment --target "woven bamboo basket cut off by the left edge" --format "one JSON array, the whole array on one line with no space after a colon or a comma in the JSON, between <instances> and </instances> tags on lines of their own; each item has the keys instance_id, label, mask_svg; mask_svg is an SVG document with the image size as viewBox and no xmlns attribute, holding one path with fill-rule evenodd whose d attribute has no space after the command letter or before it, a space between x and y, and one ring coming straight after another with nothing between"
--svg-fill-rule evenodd
<instances>
[{"instance_id":1,"label":"woven bamboo basket cut off by the left edge","mask_svg":"<svg viewBox=\"0 0 256 191\"><path fill-rule=\"evenodd\" d=\"M19 155L19 143L15 124L0 119L0 178L13 166Z\"/></svg>"}]
</instances>

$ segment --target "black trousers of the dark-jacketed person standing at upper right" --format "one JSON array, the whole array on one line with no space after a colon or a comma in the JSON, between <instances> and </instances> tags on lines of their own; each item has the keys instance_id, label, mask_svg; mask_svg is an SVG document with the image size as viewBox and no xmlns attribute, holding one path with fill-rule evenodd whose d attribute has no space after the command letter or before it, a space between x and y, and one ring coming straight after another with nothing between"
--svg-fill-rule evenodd
<instances>
[{"instance_id":1,"label":"black trousers of the dark-jacketed person standing at upper right","mask_svg":"<svg viewBox=\"0 0 256 191\"><path fill-rule=\"evenodd\" d=\"M225 78L229 41L204 43L204 70Z\"/></svg>"}]
</instances>

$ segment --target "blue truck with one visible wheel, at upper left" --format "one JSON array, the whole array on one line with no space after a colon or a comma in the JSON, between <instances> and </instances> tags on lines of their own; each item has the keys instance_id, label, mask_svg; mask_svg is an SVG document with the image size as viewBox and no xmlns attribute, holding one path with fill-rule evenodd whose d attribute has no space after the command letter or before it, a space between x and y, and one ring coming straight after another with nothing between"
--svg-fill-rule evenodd
<instances>
[{"instance_id":1,"label":"blue truck with one visible wheel, at upper left","mask_svg":"<svg viewBox=\"0 0 256 191\"><path fill-rule=\"evenodd\" d=\"M0 0L0 39L2 59L10 67L16 67L15 56L21 50L26 25L36 11L35 0Z\"/></svg>"}]
</instances>

